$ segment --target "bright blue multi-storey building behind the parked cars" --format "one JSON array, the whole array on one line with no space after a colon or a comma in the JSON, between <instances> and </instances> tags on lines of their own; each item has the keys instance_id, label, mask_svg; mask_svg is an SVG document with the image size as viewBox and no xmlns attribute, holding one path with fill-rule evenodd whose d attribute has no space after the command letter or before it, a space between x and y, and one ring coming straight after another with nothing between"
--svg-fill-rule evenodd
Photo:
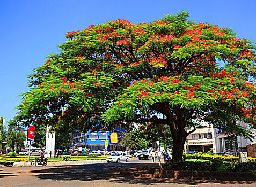
<instances>
[{"instance_id":1,"label":"bright blue multi-storey building behind the parked cars","mask_svg":"<svg viewBox=\"0 0 256 187\"><path fill-rule=\"evenodd\" d=\"M122 139L123 134L126 133L126 131L122 128L114 128L114 132L118 134L118 143L115 144L115 150L116 151L122 151ZM92 150L101 150L103 151L105 149L105 140L108 140L108 151L112 151L114 149L113 143L110 142L110 135L111 131L106 132L91 132L87 131L86 133L78 133L78 131L75 132L75 134L71 134L72 136L72 142L71 145L73 146L76 144L77 147L83 147L86 150L92 151Z\"/></svg>"}]
</instances>

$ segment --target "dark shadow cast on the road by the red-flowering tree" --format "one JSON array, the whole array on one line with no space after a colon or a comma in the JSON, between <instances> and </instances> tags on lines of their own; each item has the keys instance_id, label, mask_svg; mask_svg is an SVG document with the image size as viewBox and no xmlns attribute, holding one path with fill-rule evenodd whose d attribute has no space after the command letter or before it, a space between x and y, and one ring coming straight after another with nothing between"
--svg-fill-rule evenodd
<instances>
[{"instance_id":1,"label":"dark shadow cast on the road by the red-flowering tree","mask_svg":"<svg viewBox=\"0 0 256 187\"><path fill-rule=\"evenodd\" d=\"M95 180L110 180L115 183L128 184L191 184L199 185L202 183L220 183L220 184L251 184L252 181L211 181L211 180L174 180L169 178L138 178L120 175L123 170L136 170L141 173L152 167L156 167L153 163L102 163L90 165L73 165L52 167L41 170L30 171L34 173L35 177L41 180L55 180L55 181L95 181ZM144 171L144 172L143 172Z\"/></svg>"}]
</instances>

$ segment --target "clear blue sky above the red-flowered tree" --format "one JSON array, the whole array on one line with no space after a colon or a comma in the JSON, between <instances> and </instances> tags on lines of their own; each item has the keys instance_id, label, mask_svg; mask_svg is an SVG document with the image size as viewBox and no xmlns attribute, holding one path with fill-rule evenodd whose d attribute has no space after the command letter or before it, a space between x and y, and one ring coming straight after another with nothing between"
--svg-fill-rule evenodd
<instances>
[{"instance_id":1,"label":"clear blue sky above the red-flowered tree","mask_svg":"<svg viewBox=\"0 0 256 187\"><path fill-rule=\"evenodd\" d=\"M28 91L27 75L45 63L47 54L58 53L65 33L92 24L125 19L152 22L181 11L189 19L232 28L239 38L256 42L254 0L217 1L4 1L0 0L0 116L16 116L14 108Z\"/></svg>"}]
</instances>

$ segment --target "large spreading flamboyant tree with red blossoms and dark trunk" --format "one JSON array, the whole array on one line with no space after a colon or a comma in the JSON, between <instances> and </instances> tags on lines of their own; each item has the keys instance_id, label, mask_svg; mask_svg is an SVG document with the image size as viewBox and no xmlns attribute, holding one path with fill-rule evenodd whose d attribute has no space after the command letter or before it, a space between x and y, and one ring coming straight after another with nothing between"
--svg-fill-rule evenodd
<instances>
[{"instance_id":1,"label":"large spreading flamboyant tree with red blossoms and dark trunk","mask_svg":"<svg viewBox=\"0 0 256 187\"><path fill-rule=\"evenodd\" d=\"M49 124L57 133L167 124L174 160L193 131L186 127L200 119L248 137L237 121L255 125L254 46L230 29L187 17L68 32L60 53L28 76L31 89L15 120Z\"/></svg>"}]
</instances>

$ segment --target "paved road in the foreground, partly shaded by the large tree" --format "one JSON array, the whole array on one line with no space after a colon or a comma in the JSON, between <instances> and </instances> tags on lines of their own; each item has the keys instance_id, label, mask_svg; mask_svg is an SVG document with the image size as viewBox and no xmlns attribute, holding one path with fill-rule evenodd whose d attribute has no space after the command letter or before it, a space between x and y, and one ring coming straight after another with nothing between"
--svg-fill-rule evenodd
<instances>
[{"instance_id":1,"label":"paved road in the foreground, partly shaded by the large tree","mask_svg":"<svg viewBox=\"0 0 256 187\"><path fill-rule=\"evenodd\" d=\"M120 176L119 171L152 167L152 160L73 166L2 167L0 186L256 186L251 182L186 181Z\"/></svg>"}]
</instances>

